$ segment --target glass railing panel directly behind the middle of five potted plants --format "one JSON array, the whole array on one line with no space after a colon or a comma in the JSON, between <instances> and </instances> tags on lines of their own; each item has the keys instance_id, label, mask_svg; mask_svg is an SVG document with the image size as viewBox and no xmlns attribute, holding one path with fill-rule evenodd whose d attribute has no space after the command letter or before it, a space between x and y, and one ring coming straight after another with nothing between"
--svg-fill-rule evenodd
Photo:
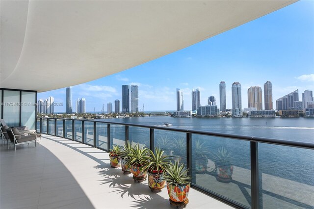
<instances>
[{"instance_id":1,"label":"glass railing panel directly behind the middle of five potted plants","mask_svg":"<svg viewBox=\"0 0 314 209\"><path fill-rule=\"evenodd\" d=\"M150 147L149 141L149 129L129 126L129 140L134 143L138 143L139 147Z\"/></svg>"}]
</instances>

